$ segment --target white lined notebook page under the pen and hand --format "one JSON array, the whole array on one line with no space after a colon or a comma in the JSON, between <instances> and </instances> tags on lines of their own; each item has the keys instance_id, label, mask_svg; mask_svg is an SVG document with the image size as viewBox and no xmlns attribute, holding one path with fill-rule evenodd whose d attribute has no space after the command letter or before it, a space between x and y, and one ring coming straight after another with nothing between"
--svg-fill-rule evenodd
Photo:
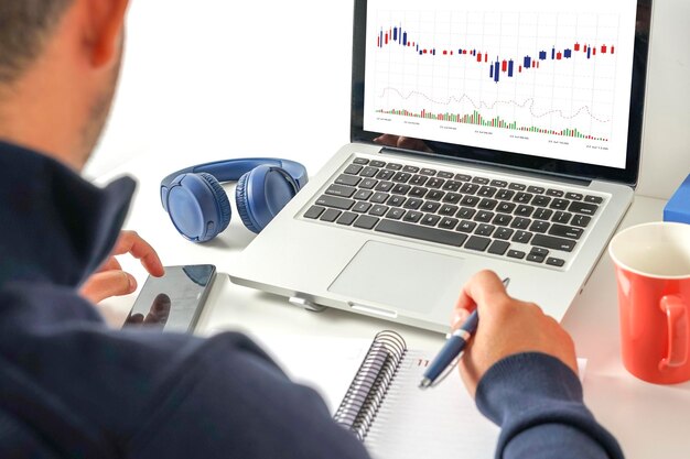
<instances>
[{"instance_id":1,"label":"white lined notebook page under the pen and hand","mask_svg":"<svg viewBox=\"0 0 690 459\"><path fill-rule=\"evenodd\" d=\"M369 428L365 445L375 459L489 459L499 429L477 411L460 374L418 387L434 354L408 351Z\"/></svg>"}]
</instances>

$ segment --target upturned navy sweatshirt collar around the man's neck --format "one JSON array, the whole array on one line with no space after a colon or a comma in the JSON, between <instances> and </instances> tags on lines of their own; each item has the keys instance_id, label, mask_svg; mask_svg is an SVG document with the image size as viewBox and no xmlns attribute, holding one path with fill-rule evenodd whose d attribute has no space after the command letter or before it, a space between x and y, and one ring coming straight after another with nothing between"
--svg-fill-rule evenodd
<instances>
[{"instance_id":1,"label":"upturned navy sweatshirt collar around the man's neck","mask_svg":"<svg viewBox=\"0 0 690 459\"><path fill-rule=\"evenodd\" d=\"M0 285L78 286L110 254L134 181L99 188L44 154L0 141Z\"/></svg>"}]
</instances>

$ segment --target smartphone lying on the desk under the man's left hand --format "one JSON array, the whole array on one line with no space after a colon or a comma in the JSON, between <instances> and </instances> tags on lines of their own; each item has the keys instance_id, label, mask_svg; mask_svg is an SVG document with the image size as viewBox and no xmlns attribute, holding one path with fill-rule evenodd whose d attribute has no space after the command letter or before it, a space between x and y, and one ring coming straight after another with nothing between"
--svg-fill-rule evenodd
<instances>
[{"instance_id":1,"label":"smartphone lying on the desk under the man's left hand","mask_svg":"<svg viewBox=\"0 0 690 459\"><path fill-rule=\"evenodd\" d=\"M165 266L162 277L147 278L123 327L192 332L215 276L213 264Z\"/></svg>"}]
</instances>

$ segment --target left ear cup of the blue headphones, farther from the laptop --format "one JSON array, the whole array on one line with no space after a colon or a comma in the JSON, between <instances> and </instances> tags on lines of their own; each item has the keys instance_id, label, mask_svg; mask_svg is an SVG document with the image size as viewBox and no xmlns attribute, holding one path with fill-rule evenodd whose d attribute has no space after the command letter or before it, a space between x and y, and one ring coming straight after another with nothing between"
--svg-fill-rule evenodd
<instances>
[{"instance_id":1,"label":"left ear cup of the blue headphones, farther from the laptop","mask_svg":"<svg viewBox=\"0 0 690 459\"><path fill-rule=\"evenodd\" d=\"M168 212L185 238L205 242L230 222L230 201L211 174L184 174L175 178L168 194Z\"/></svg>"}]
</instances>

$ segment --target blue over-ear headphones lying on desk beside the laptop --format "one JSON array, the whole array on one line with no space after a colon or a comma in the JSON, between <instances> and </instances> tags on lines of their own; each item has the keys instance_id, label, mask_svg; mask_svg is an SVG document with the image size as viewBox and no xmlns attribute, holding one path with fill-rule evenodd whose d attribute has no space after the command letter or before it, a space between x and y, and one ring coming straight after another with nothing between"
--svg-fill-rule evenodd
<instances>
[{"instance_id":1,"label":"blue over-ear headphones lying on desk beside the laptop","mask_svg":"<svg viewBox=\"0 0 690 459\"><path fill-rule=\"evenodd\" d=\"M309 181L300 163L274 157L216 161L174 172L161 182L161 203L182 236L205 242L230 222L230 201L220 182L235 182L237 211L261 231Z\"/></svg>"}]
</instances>

